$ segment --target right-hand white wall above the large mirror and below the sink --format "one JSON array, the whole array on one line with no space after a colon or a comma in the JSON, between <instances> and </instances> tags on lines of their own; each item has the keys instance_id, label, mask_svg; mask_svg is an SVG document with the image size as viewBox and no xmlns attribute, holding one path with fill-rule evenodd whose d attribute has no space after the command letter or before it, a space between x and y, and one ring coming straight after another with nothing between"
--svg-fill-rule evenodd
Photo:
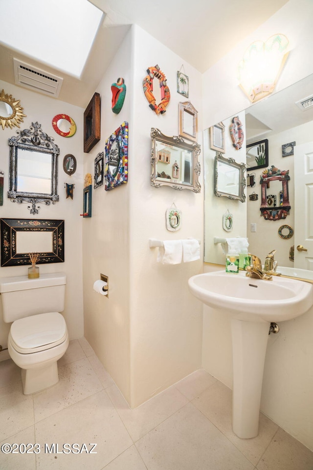
<instances>
[{"instance_id":1,"label":"right-hand white wall above the large mirror and below the sink","mask_svg":"<svg viewBox=\"0 0 313 470\"><path fill-rule=\"evenodd\" d=\"M307 60L311 55L313 43L313 31L310 26L312 15L312 1L289 1L268 22L247 37L246 41L231 50L203 75L204 128L225 119L226 116L234 115L249 105L248 99L236 82L236 67L246 47L254 40L266 40L277 32L286 34L290 40L292 50L276 91L313 73L313 64ZM292 140L287 139L286 142ZM245 217L243 214L243 223ZM204 269L207 271L212 267L205 265ZM313 310L291 322L282 322L278 335L270 335L261 402L261 410L269 418L311 449L313 343L309 332L312 331L312 325ZM205 306L202 366L229 387L232 386L230 345L230 322L227 314L225 313L221 320L219 312Z\"/></svg>"}]
</instances>

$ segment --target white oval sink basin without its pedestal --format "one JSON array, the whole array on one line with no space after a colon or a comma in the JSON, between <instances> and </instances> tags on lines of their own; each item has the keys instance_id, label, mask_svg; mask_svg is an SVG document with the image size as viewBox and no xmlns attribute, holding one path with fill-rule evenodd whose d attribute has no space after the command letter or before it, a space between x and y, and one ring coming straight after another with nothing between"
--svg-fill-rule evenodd
<instances>
[{"instance_id":1,"label":"white oval sink basin without its pedestal","mask_svg":"<svg viewBox=\"0 0 313 470\"><path fill-rule=\"evenodd\" d=\"M283 322L307 312L313 304L312 284L273 276L271 281L246 272L198 274L189 279L192 294L213 308L224 308L246 321Z\"/></svg>"}]
</instances>

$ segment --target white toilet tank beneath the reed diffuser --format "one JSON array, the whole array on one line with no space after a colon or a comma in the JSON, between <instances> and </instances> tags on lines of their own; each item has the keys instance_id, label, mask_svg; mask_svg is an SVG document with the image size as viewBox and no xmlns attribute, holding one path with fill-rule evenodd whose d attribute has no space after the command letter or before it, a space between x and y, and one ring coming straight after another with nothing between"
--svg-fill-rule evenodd
<instances>
[{"instance_id":1,"label":"white toilet tank beneath the reed diffuser","mask_svg":"<svg viewBox=\"0 0 313 470\"><path fill-rule=\"evenodd\" d=\"M1 277L0 297L5 323L47 312L62 312L67 277L64 272L28 276Z\"/></svg>"}]
</instances>

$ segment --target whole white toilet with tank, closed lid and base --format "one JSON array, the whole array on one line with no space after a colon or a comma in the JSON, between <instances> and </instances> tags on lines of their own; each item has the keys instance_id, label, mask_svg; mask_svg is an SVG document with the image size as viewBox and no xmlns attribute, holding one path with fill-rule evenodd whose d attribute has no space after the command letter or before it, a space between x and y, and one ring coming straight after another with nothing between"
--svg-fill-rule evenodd
<instances>
[{"instance_id":1,"label":"whole white toilet with tank, closed lid and base","mask_svg":"<svg viewBox=\"0 0 313 470\"><path fill-rule=\"evenodd\" d=\"M8 337L12 360L22 368L25 395L39 392L59 380L58 364L67 350L64 317L66 274L0 278L3 321L13 322Z\"/></svg>"}]
</instances>

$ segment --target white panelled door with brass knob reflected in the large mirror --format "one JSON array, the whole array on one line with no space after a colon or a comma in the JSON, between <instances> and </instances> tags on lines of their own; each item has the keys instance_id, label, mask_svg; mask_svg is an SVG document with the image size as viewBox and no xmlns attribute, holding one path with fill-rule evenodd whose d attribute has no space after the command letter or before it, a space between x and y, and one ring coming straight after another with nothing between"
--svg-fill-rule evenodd
<instances>
[{"instance_id":1,"label":"white panelled door with brass knob reflected in the large mirror","mask_svg":"<svg viewBox=\"0 0 313 470\"><path fill-rule=\"evenodd\" d=\"M313 142L294 148L294 267L313 271Z\"/></svg>"}]
</instances>

